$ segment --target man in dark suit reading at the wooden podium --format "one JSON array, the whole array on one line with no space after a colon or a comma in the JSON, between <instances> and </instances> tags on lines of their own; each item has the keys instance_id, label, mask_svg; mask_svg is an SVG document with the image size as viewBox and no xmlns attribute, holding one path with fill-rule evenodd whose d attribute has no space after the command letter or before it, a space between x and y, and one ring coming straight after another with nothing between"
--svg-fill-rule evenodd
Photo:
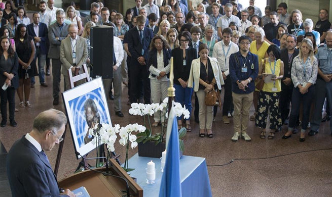
<instances>
[{"instance_id":1,"label":"man in dark suit reading at the wooden podium","mask_svg":"<svg viewBox=\"0 0 332 197\"><path fill-rule=\"evenodd\" d=\"M69 189L60 190L51 164L44 151L51 151L63 140L67 117L50 109L40 113L32 131L17 140L6 161L7 176L14 197L75 196Z\"/></svg>"}]
</instances>

